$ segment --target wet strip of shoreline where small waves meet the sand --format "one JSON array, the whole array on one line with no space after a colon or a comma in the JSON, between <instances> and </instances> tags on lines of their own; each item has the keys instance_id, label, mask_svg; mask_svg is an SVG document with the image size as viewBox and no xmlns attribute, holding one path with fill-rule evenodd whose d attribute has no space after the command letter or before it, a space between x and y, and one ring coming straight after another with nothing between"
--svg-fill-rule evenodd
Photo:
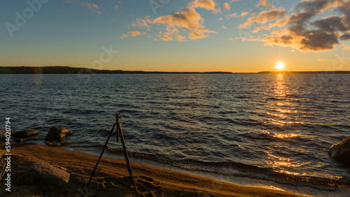
<instances>
[{"instance_id":1,"label":"wet strip of shoreline where small waves meet the sand","mask_svg":"<svg viewBox=\"0 0 350 197\"><path fill-rule=\"evenodd\" d=\"M75 149L73 147L62 147L68 151L80 152L84 154L99 156L101 150L89 151L82 149ZM123 152L116 153L111 152L110 149L106 149L104 157L110 159L118 159L124 161ZM260 171L252 171L251 173L258 175L257 177L248 177L242 175L228 175L225 173L215 173L208 170L187 169L179 166L174 166L167 163L160 163L144 157L135 156L132 152L129 152L130 161L134 163L144 164L146 166L152 166L155 168L162 168L165 170L174 171L177 173L185 173L187 175L194 175L214 179L218 181L228 182L230 184L238 184L246 187L262 187L265 189L276 189L281 191L288 191L294 194L301 194L306 196L346 196L350 195L350 187L344 180L328 180L321 177L312 176L298 176L298 175L267 175ZM232 168L235 168L232 166ZM344 192L343 192L344 191Z\"/></svg>"}]
</instances>

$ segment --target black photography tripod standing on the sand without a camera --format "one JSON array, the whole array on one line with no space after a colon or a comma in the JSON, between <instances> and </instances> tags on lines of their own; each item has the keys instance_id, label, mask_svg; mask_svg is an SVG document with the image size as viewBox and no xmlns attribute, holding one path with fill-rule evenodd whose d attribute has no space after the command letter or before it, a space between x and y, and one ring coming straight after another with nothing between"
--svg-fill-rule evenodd
<instances>
[{"instance_id":1,"label":"black photography tripod standing on the sand without a camera","mask_svg":"<svg viewBox=\"0 0 350 197\"><path fill-rule=\"evenodd\" d=\"M132 176L132 168L130 166L129 156L127 155L127 147L125 146L125 140L124 140L124 136L123 136L122 126L120 126L119 119L120 119L120 113L116 113L116 123L113 124L111 133L109 133L109 138L111 138L113 130L117 126L117 143L118 143L118 136L120 135L120 140L122 141L122 145L123 145L123 149L124 149L125 160L127 161L127 171L129 172L130 180L134 184L135 194L137 197L139 197L139 195L137 193L137 188L136 188L134 176ZM109 143L109 138L107 138L106 143L104 144L104 149L106 149L107 144ZM97 166L99 165L99 161L101 160L102 154L104 154L104 149L102 149L101 155L99 155L99 160L97 160L96 166L94 166L94 170L92 171L92 175L90 177L89 182L87 182L87 185L84 189L82 196L85 195L85 192L87 191L87 187L89 187L89 184L92 180L92 176L94 175L94 171L97 169Z\"/></svg>"}]
</instances>

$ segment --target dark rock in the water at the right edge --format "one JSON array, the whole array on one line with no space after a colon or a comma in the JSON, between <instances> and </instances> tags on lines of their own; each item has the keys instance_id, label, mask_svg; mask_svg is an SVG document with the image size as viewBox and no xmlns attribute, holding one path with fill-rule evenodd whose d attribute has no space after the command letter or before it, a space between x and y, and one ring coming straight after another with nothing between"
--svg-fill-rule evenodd
<instances>
[{"instance_id":1,"label":"dark rock in the water at the right edge","mask_svg":"<svg viewBox=\"0 0 350 197\"><path fill-rule=\"evenodd\" d=\"M328 150L328 154L339 161L350 161L350 137L332 145Z\"/></svg>"}]
</instances>

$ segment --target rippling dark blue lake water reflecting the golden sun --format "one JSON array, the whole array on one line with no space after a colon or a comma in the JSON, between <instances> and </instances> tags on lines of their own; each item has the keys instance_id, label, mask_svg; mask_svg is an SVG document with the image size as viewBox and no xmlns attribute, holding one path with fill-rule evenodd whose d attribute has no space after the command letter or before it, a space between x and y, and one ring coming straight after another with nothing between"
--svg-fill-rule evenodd
<instances>
[{"instance_id":1,"label":"rippling dark blue lake water reflecting the golden sun","mask_svg":"<svg viewBox=\"0 0 350 197\"><path fill-rule=\"evenodd\" d=\"M346 74L0 75L13 131L73 132L64 147L100 152L115 113L132 158L260 180L346 184L328 147L350 136ZM120 154L116 132L109 153Z\"/></svg>"}]
</instances>

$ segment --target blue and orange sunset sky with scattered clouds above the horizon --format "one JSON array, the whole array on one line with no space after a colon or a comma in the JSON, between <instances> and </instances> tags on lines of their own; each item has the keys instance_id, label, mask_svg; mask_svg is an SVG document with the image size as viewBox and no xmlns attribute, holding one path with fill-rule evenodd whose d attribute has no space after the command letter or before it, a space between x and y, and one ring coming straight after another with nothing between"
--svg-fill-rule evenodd
<instances>
[{"instance_id":1,"label":"blue and orange sunset sky with scattered clouds above the horizon","mask_svg":"<svg viewBox=\"0 0 350 197\"><path fill-rule=\"evenodd\" d=\"M349 5L6 0L0 66L257 72L282 61L289 71L350 70Z\"/></svg>"}]
</instances>

